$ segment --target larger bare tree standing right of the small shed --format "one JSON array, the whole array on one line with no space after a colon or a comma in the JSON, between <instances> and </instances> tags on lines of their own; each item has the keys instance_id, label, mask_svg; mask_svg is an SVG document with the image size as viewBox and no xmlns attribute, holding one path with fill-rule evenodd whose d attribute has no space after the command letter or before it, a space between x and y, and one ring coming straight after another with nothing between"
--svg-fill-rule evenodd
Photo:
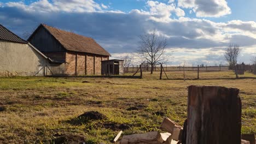
<instances>
[{"instance_id":1,"label":"larger bare tree standing right of the small shed","mask_svg":"<svg viewBox=\"0 0 256 144\"><path fill-rule=\"evenodd\" d=\"M167 55L165 55L167 46L166 39L160 38L156 34L156 31L140 35L139 39L139 57L151 66L151 74L153 74L153 67L156 64L164 63L167 60Z\"/></svg>"}]
</instances>

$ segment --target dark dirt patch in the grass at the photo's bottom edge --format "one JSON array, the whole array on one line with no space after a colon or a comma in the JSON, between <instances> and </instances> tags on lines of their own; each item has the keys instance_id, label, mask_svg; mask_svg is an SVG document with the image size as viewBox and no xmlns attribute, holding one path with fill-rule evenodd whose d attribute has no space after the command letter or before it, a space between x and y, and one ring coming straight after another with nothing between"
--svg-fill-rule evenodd
<instances>
[{"instance_id":1,"label":"dark dirt patch in the grass at the photo's bottom edge","mask_svg":"<svg viewBox=\"0 0 256 144\"><path fill-rule=\"evenodd\" d=\"M83 135L55 135L55 139L53 139L53 143L61 144L61 143L84 143L86 139Z\"/></svg>"}]
</instances>

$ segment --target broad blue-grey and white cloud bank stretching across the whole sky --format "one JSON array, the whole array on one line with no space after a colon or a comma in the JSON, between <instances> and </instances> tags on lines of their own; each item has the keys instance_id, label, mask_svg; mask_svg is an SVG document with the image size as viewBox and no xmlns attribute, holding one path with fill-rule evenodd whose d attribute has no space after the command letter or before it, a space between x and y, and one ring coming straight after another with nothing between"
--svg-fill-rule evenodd
<instances>
[{"instance_id":1,"label":"broad blue-grey and white cloud bank stretching across the whole sky","mask_svg":"<svg viewBox=\"0 0 256 144\"><path fill-rule=\"evenodd\" d=\"M0 7L0 22L19 35L39 23L72 29L95 38L111 53L134 52L138 35L156 29L161 37L167 39L168 51L176 51L174 55L177 61L183 61L186 57L187 61L219 63L224 61L218 58L222 58L223 48L229 43L239 44L246 50L243 59L256 53L256 23L253 21L190 19L183 17L184 11L179 11L173 3L155 1L148 1L148 11L135 9L130 13L102 10L102 5L93 1L49 2L40 0L28 5L22 2L4 4L3 8ZM35 9L36 13L33 11ZM173 13L181 17L172 19Z\"/></svg>"}]
</instances>

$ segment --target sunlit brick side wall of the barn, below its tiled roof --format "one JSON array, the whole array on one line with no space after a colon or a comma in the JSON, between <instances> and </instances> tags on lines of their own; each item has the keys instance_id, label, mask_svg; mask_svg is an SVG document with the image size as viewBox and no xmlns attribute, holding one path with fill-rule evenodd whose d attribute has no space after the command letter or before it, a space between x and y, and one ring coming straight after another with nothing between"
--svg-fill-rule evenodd
<instances>
[{"instance_id":1,"label":"sunlit brick side wall of the barn, below its tiled roof","mask_svg":"<svg viewBox=\"0 0 256 144\"><path fill-rule=\"evenodd\" d=\"M75 58L76 55L77 60ZM78 76L101 75L101 59L108 59L108 57L91 53L68 51L66 53L66 74L75 75L75 61L77 61Z\"/></svg>"}]
</instances>

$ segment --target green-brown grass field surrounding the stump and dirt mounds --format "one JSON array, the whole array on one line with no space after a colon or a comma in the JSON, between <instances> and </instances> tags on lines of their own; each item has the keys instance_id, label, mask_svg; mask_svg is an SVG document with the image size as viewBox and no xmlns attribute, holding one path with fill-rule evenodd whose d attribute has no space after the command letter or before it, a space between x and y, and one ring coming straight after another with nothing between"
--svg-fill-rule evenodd
<instances>
[{"instance_id":1,"label":"green-brown grass field surrounding the stump and dirt mounds","mask_svg":"<svg viewBox=\"0 0 256 144\"><path fill-rule=\"evenodd\" d=\"M183 79L182 73L167 75ZM186 72L187 78L196 76ZM85 138L86 143L110 143L119 130L124 134L159 130L164 115L183 125L189 85L239 88L242 133L256 133L256 76L252 74L238 80L231 71L200 73L203 80L158 80L159 73L143 73L143 77L0 78L0 143L53 143L61 135ZM107 119L71 123L86 111L98 111Z\"/></svg>"}]
</instances>

